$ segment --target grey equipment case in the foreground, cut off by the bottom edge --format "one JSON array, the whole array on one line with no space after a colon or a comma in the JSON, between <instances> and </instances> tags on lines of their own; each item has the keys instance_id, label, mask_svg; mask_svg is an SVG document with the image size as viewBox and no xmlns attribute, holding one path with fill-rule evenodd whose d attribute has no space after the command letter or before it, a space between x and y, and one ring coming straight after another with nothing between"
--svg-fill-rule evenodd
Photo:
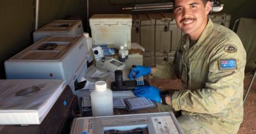
<instances>
[{"instance_id":1,"label":"grey equipment case in the foreground, cut off by the bottom edge","mask_svg":"<svg viewBox=\"0 0 256 134\"><path fill-rule=\"evenodd\" d=\"M149 134L182 133L173 112L75 118L70 134L104 134L131 129ZM116 131L115 131L116 130Z\"/></svg>"}]
</instances>

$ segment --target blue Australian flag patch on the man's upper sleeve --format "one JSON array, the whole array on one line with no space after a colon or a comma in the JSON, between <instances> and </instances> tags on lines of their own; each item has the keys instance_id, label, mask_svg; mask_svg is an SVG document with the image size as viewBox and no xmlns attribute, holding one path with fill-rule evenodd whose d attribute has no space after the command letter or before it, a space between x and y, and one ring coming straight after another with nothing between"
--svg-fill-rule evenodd
<instances>
[{"instance_id":1,"label":"blue Australian flag patch on the man's upper sleeve","mask_svg":"<svg viewBox=\"0 0 256 134\"><path fill-rule=\"evenodd\" d=\"M220 59L219 60L220 70L234 70L237 69L236 59Z\"/></svg>"}]
</instances>

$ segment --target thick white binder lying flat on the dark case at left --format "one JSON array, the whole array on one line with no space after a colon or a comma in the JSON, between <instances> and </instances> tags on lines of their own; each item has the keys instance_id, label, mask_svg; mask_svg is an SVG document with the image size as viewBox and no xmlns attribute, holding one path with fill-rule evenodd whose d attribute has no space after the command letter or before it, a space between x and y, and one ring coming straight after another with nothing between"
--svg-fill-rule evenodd
<instances>
[{"instance_id":1,"label":"thick white binder lying flat on the dark case at left","mask_svg":"<svg viewBox=\"0 0 256 134\"><path fill-rule=\"evenodd\" d=\"M0 124L41 124L65 87L64 80L0 80Z\"/></svg>"}]
</instances>

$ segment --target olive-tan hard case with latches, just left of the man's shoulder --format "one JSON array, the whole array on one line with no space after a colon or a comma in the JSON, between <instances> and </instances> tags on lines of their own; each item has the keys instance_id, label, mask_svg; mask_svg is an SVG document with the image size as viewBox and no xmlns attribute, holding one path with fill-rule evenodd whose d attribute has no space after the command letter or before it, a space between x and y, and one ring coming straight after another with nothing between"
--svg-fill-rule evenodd
<instances>
[{"instance_id":1,"label":"olive-tan hard case with latches, just left of the man's shoulder","mask_svg":"<svg viewBox=\"0 0 256 134\"><path fill-rule=\"evenodd\" d=\"M149 14L156 20L156 64L173 61L182 32L172 13Z\"/></svg>"}]
</instances>

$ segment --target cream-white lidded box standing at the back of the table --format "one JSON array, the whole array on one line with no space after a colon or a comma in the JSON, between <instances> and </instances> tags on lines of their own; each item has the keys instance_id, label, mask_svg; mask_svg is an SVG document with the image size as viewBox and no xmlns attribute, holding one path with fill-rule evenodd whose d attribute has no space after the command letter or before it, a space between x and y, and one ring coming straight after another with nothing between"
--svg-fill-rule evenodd
<instances>
[{"instance_id":1,"label":"cream-white lidded box standing at the back of the table","mask_svg":"<svg viewBox=\"0 0 256 134\"><path fill-rule=\"evenodd\" d=\"M131 14L95 14L89 23L93 45L114 44L119 49L127 42L131 49Z\"/></svg>"}]
</instances>

